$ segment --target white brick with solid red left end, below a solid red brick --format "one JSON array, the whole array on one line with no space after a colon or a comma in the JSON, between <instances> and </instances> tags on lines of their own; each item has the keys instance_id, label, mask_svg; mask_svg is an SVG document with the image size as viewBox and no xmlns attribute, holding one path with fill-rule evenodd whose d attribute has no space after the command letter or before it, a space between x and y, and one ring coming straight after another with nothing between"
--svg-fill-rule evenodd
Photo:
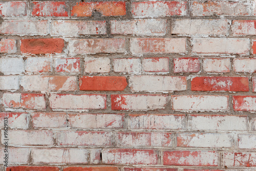
<instances>
[{"instance_id":1,"label":"white brick with solid red left end, below a solid red brick","mask_svg":"<svg viewBox=\"0 0 256 171\"><path fill-rule=\"evenodd\" d=\"M167 95L111 95L112 110L157 110L164 109Z\"/></svg>"}]
</instances>

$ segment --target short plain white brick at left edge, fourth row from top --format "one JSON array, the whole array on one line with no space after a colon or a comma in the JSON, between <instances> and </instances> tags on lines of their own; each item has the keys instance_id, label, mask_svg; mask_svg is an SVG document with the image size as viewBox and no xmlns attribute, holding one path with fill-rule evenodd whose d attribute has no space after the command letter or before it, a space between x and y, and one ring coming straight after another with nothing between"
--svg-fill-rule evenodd
<instances>
[{"instance_id":1,"label":"short plain white brick at left edge, fourth row from top","mask_svg":"<svg viewBox=\"0 0 256 171\"><path fill-rule=\"evenodd\" d=\"M5 75L22 74L25 72L23 58L1 57L0 72L3 72Z\"/></svg>"}]
</instances>

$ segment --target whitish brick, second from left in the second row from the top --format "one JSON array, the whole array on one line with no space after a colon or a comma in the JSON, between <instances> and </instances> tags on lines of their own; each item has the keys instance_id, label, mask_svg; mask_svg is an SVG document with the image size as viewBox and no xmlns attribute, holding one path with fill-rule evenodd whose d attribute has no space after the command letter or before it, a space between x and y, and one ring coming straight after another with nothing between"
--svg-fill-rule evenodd
<instances>
[{"instance_id":1,"label":"whitish brick, second from left in the second row from the top","mask_svg":"<svg viewBox=\"0 0 256 171\"><path fill-rule=\"evenodd\" d=\"M80 36L106 34L105 21L55 20L51 22L52 36Z\"/></svg>"}]
</instances>

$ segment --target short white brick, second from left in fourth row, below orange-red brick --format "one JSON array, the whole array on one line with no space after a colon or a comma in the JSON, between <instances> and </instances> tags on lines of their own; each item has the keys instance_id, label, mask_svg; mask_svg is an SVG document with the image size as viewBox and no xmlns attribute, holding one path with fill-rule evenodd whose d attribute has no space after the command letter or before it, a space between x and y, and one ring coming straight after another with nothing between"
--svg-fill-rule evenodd
<instances>
[{"instance_id":1,"label":"short white brick, second from left in fourth row, below orange-red brick","mask_svg":"<svg viewBox=\"0 0 256 171\"><path fill-rule=\"evenodd\" d=\"M27 72L51 72L52 59L48 57L28 57L25 64Z\"/></svg>"}]
</instances>

